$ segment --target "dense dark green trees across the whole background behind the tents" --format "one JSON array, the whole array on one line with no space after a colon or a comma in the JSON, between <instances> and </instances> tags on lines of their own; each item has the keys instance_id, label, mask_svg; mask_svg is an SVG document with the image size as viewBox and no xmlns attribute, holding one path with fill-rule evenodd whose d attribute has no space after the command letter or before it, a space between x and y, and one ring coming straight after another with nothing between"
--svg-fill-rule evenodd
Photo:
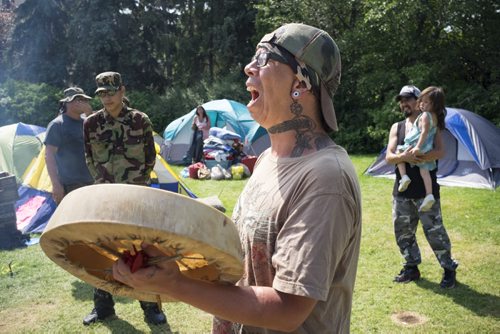
<instances>
[{"instance_id":1,"label":"dense dark green trees across the whole background behind the tents","mask_svg":"<svg viewBox=\"0 0 500 334\"><path fill-rule=\"evenodd\" d=\"M255 44L287 22L318 26L339 45L334 139L350 152L385 145L390 125L401 118L394 96L408 83L442 86L447 105L500 125L495 1L26 0L14 19L11 8L0 14L0 94L31 84L59 92L77 84L92 93L95 75L115 70L132 104L160 133L207 100L245 102L243 67ZM34 92L42 91L31 88L30 96ZM39 116L25 118L7 106L0 102L1 124L54 113L31 106Z\"/></svg>"}]
</instances>

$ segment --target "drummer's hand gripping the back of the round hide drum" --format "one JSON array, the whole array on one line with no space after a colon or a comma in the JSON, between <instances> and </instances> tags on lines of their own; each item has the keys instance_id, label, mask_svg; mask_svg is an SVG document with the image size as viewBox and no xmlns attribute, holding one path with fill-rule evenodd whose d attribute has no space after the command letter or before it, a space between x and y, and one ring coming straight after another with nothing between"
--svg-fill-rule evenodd
<instances>
[{"instance_id":1,"label":"drummer's hand gripping the back of the round hide drum","mask_svg":"<svg viewBox=\"0 0 500 334\"><path fill-rule=\"evenodd\" d=\"M165 253L159 251L155 246L143 244L142 249L150 257L165 256ZM135 273L130 271L130 267L119 259L113 264L113 277L117 281L122 282L136 290L143 292L161 293L158 287L165 287L172 283L175 285L177 279L182 274L179 271L179 266L175 261L162 261L154 265L141 268Z\"/></svg>"}]
</instances>

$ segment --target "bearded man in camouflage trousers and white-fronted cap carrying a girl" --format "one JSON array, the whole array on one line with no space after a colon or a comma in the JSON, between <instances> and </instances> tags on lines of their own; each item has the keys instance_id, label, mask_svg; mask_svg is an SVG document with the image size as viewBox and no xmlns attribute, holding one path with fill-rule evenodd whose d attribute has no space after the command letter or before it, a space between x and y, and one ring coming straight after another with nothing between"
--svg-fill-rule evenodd
<instances>
[{"instance_id":1,"label":"bearded man in camouflage trousers and white-fronted cap carrying a girl","mask_svg":"<svg viewBox=\"0 0 500 334\"><path fill-rule=\"evenodd\" d=\"M408 188L398 191L401 175L397 168L396 181L393 190L393 223L396 234L396 242L399 250L405 259L405 264L395 282L407 283L418 280L420 271L418 265L421 262L420 250L418 248L415 233L420 220L427 241L429 242L439 264L444 269L443 279L440 286L442 288L453 288L456 283L456 268L458 263L451 256L451 243L441 217L441 204L439 194L439 184L436 181L437 168L431 171L432 192L436 202L429 211L421 212L419 207L425 197L424 182L420 176L418 166L410 164L422 161L438 160L444 155L444 146L441 132L436 133L434 149L422 156L413 156L410 149L404 152L397 151L397 145L403 143L405 134L411 129L415 119L420 113L417 105L417 98L420 90L415 86L404 86L396 97L401 111L405 114L406 120L394 123L389 135L387 145L386 161L391 164L406 163L408 176L412 180Z\"/></svg>"}]
</instances>

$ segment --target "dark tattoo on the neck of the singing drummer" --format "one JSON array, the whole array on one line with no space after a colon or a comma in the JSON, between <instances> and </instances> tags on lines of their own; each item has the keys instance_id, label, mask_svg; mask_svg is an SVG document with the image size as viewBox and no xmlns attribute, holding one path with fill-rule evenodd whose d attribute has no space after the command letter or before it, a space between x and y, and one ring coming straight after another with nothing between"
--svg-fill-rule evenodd
<instances>
[{"instance_id":1,"label":"dark tattoo on the neck of the singing drummer","mask_svg":"<svg viewBox=\"0 0 500 334\"><path fill-rule=\"evenodd\" d=\"M302 106L294 100L290 105L290 111L294 117L280 124L270 127L267 131L271 134L282 133L293 130L295 134L295 146L291 157L300 157L305 150L320 150L331 143L330 137L324 133L315 132L316 124L313 120L302 114Z\"/></svg>"}]
</instances>

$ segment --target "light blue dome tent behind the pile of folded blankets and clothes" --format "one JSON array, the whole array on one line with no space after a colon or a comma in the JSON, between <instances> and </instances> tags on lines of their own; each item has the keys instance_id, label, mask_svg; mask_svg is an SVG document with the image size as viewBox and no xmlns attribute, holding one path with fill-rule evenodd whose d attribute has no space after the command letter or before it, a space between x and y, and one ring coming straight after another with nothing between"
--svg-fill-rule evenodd
<instances>
[{"instance_id":1,"label":"light blue dome tent behind the pile of folded blankets and clothes","mask_svg":"<svg viewBox=\"0 0 500 334\"><path fill-rule=\"evenodd\" d=\"M232 100L214 100L203 104L212 127L227 128L242 138L244 152L259 155L270 146L267 131L250 116L248 108ZM191 144L193 130L191 124L196 108L172 121L163 132L165 139L162 156L173 164L182 164Z\"/></svg>"}]
</instances>

